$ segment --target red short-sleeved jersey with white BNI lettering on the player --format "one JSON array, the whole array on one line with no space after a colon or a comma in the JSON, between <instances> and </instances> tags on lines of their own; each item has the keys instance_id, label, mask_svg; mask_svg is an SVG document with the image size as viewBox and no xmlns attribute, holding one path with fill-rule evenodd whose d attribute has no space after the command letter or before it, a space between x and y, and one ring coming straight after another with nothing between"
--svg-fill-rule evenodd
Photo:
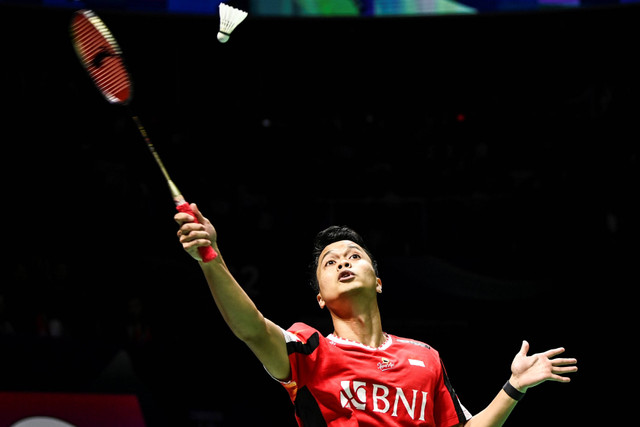
<instances>
[{"instance_id":1,"label":"red short-sleeved jersey with white BNI lettering on the player","mask_svg":"<svg viewBox=\"0 0 640 427\"><path fill-rule=\"evenodd\" d=\"M373 348L304 323L284 335L291 380L281 383L301 427L449 427L471 418L423 342L386 334Z\"/></svg>"}]
</instances>

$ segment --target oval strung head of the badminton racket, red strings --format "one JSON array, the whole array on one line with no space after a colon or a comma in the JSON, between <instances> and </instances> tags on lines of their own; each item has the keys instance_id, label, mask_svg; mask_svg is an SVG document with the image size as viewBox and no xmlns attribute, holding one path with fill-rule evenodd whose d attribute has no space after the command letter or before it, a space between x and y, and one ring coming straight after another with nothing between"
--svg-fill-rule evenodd
<instances>
[{"instance_id":1,"label":"oval strung head of the badminton racket, red strings","mask_svg":"<svg viewBox=\"0 0 640 427\"><path fill-rule=\"evenodd\" d=\"M122 50L102 19L92 10L78 10L69 32L80 63L100 93L112 104L128 104L133 96L131 77Z\"/></svg>"}]
</instances>

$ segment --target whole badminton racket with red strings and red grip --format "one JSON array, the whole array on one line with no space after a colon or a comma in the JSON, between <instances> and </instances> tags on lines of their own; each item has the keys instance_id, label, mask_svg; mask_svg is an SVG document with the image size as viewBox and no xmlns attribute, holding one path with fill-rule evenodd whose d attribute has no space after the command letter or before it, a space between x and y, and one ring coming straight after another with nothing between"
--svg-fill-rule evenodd
<instances>
[{"instance_id":1,"label":"whole badminton racket with red strings and red grip","mask_svg":"<svg viewBox=\"0 0 640 427\"><path fill-rule=\"evenodd\" d=\"M169 177L142 122L137 115L131 113L129 103L133 97L133 84L124 63L122 50L111 31L92 10L82 9L73 14L70 33L80 63L100 93L109 103L127 107L131 119L169 185L176 209L193 216L197 222L189 203ZM211 246L199 247L198 251L203 262L209 262L218 255Z\"/></svg>"}]
</instances>

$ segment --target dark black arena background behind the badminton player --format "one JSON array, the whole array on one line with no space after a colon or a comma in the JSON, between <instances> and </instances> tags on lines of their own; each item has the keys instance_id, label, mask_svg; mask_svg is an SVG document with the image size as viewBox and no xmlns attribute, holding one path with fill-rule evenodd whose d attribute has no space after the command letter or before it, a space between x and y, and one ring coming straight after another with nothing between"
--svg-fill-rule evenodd
<instances>
[{"instance_id":1,"label":"dark black arena background behind the badminton player","mask_svg":"<svg viewBox=\"0 0 640 427\"><path fill-rule=\"evenodd\" d=\"M226 44L215 16L97 12L132 109L265 316L331 332L306 267L317 231L350 225L380 264L384 329L438 349L471 412L523 339L580 372L508 425L625 412L640 8L249 16ZM295 425L178 244L126 109L80 66L71 14L0 8L0 389L136 393L150 427Z\"/></svg>"}]
</instances>

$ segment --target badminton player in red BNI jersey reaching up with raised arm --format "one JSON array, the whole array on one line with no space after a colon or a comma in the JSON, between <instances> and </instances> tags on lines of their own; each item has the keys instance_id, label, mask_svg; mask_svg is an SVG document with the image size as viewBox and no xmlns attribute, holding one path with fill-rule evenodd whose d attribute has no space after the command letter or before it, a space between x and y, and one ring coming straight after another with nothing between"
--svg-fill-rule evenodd
<instances>
[{"instance_id":1,"label":"badminton player in red BNI jersey reaching up with raised arm","mask_svg":"<svg viewBox=\"0 0 640 427\"><path fill-rule=\"evenodd\" d=\"M567 383L566 374L578 369L576 359L557 357L563 348L529 355L523 341L502 390L472 416L433 347L384 331L382 281L356 232L329 227L314 242L312 284L333 321L333 332L323 336L304 323L284 329L265 318L225 265L215 228L192 208L199 223L175 215L179 240L199 261L227 325L288 391L299 426L501 426L527 389ZM197 248L208 245L218 257L204 263Z\"/></svg>"}]
</instances>

